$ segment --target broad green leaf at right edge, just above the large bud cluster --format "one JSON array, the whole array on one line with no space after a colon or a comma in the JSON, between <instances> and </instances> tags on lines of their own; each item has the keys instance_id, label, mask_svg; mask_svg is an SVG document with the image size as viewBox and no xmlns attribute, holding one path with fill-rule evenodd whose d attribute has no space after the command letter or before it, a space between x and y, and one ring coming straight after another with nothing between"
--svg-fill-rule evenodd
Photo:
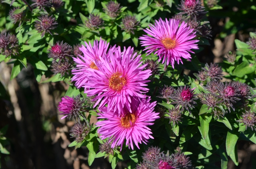
<instances>
[{"instance_id":1,"label":"broad green leaf at right edge, just above the large bud cluster","mask_svg":"<svg viewBox=\"0 0 256 169\"><path fill-rule=\"evenodd\" d=\"M243 77L246 74L250 74L255 71L255 67L248 62L242 62L233 71L232 75L237 77Z\"/></svg>"}]
</instances>

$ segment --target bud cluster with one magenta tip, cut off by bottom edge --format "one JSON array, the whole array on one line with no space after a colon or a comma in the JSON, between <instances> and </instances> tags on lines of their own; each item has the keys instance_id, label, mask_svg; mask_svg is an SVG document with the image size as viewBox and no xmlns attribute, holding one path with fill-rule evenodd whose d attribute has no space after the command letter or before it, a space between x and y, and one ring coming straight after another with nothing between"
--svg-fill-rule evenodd
<instances>
[{"instance_id":1,"label":"bud cluster with one magenta tip, cut off by bottom edge","mask_svg":"<svg viewBox=\"0 0 256 169\"><path fill-rule=\"evenodd\" d=\"M160 148L151 146L142 155L143 162L136 169L193 169L191 160L184 153L176 152L169 155L160 152Z\"/></svg>"}]
</instances>

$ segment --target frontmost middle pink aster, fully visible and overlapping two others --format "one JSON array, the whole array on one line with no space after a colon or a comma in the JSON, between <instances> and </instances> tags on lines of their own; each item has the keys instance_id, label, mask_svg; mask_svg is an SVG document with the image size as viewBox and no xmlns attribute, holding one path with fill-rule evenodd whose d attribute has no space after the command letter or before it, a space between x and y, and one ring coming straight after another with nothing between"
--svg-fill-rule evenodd
<instances>
[{"instance_id":1,"label":"frontmost middle pink aster, fully visible and overlapping two others","mask_svg":"<svg viewBox=\"0 0 256 169\"><path fill-rule=\"evenodd\" d=\"M87 69L87 81L84 93L88 96L97 95L94 107L101 101L99 108L108 104L109 112L112 108L121 110L124 106L130 107L131 98L145 98L142 94L148 91L146 80L151 75L151 70L143 70L147 64L142 64L140 55L133 54L133 48L121 52L120 47L114 48L114 52L109 50L109 59L100 58L95 60L98 70ZM131 110L129 110L131 111ZM119 111L120 114L120 111Z\"/></svg>"}]
</instances>

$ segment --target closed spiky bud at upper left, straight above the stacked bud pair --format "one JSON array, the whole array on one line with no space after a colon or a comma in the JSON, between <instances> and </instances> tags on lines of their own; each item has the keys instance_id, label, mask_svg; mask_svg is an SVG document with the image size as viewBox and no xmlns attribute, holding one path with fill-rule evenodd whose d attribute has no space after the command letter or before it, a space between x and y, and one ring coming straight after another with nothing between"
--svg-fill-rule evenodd
<instances>
[{"instance_id":1,"label":"closed spiky bud at upper left, straight above the stacked bud pair","mask_svg":"<svg viewBox=\"0 0 256 169\"><path fill-rule=\"evenodd\" d=\"M53 16L39 16L39 20L35 21L35 30L38 32L41 32L42 37L45 35L45 33L49 33L52 35L52 32L50 30L53 30L57 27L57 22L55 21L55 18Z\"/></svg>"}]
</instances>

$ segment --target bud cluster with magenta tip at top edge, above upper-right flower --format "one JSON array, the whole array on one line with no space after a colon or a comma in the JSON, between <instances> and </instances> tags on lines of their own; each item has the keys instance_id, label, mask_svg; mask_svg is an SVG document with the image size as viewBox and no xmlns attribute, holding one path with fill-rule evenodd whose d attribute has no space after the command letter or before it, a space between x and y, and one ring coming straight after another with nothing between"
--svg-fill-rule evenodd
<instances>
[{"instance_id":1,"label":"bud cluster with magenta tip at top edge, above upper-right flower","mask_svg":"<svg viewBox=\"0 0 256 169\"><path fill-rule=\"evenodd\" d=\"M185 21L190 28L196 31L197 36L211 38L211 26L208 24L209 22L204 22L203 25L200 22L207 13L201 0L182 0L178 9L181 12L174 15L173 18Z\"/></svg>"}]
</instances>

